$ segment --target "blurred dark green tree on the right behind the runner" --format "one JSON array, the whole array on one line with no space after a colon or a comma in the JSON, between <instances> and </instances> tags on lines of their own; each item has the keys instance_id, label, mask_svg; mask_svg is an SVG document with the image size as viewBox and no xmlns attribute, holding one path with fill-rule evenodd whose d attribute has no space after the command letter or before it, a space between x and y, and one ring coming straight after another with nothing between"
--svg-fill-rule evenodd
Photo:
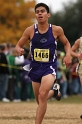
<instances>
[{"instance_id":1,"label":"blurred dark green tree on the right behind the runner","mask_svg":"<svg viewBox=\"0 0 82 124\"><path fill-rule=\"evenodd\" d=\"M71 45L77 38L82 36L82 0L75 3L70 1L64 4L63 10L55 14L51 13L50 23L59 25L64 29L65 35ZM58 49L63 50L62 44L58 43Z\"/></svg>"}]
</instances>

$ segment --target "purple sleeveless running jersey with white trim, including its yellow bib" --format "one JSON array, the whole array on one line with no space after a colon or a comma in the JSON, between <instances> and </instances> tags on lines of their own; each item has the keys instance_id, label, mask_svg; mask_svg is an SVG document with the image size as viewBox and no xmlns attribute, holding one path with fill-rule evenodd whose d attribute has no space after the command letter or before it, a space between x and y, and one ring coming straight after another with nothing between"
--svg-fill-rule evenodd
<instances>
[{"instance_id":1,"label":"purple sleeveless running jersey with white trim, including its yellow bib","mask_svg":"<svg viewBox=\"0 0 82 124\"><path fill-rule=\"evenodd\" d=\"M46 33L40 34L37 24L34 25L34 36L30 42L31 64L45 65L57 61L57 42L52 33L52 25Z\"/></svg>"}]
</instances>

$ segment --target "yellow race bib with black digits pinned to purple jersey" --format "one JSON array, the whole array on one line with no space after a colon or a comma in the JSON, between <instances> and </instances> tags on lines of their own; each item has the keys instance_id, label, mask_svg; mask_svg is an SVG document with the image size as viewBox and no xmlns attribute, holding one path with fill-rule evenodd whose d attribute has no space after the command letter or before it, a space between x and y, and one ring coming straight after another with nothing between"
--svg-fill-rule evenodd
<instances>
[{"instance_id":1,"label":"yellow race bib with black digits pinned to purple jersey","mask_svg":"<svg viewBox=\"0 0 82 124\"><path fill-rule=\"evenodd\" d=\"M39 62L48 62L49 49L34 49L34 60Z\"/></svg>"}]
</instances>

